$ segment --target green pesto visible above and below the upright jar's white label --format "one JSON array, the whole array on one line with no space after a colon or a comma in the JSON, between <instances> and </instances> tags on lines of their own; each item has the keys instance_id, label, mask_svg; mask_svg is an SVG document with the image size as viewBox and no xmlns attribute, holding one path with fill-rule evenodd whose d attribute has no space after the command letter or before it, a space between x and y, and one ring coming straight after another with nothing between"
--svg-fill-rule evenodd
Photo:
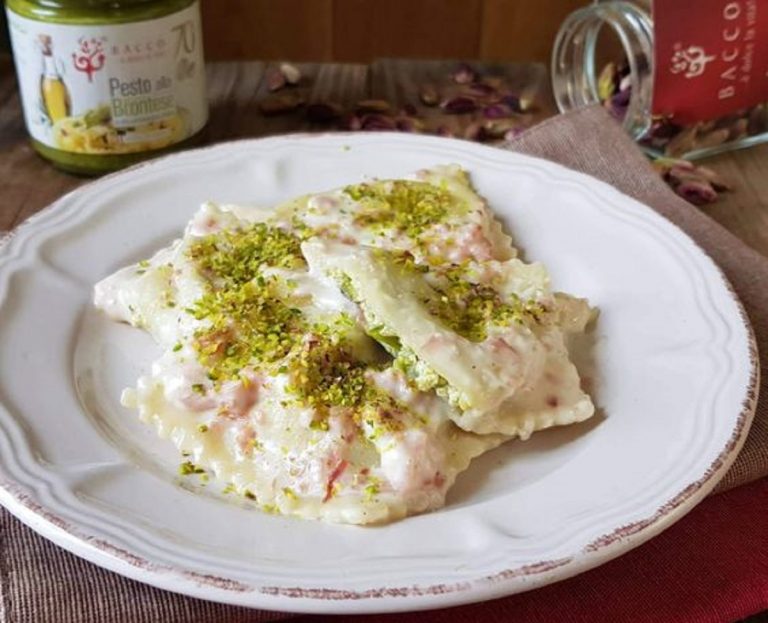
<instances>
[{"instance_id":1,"label":"green pesto visible above and below the upright jar's white label","mask_svg":"<svg viewBox=\"0 0 768 623\"><path fill-rule=\"evenodd\" d=\"M9 17L22 18L52 25L68 26L119 26L150 22L140 28L151 27L151 21L164 18L196 4L198 0L6 0ZM200 37L198 37L199 39ZM202 48L200 46L198 71L202 72ZM14 49L14 54L16 54ZM20 73L20 72L19 72ZM21 80L20 80L21 81ZM22 99L23 99L22 89ZM202 106L207 104L202 97ZM92 114L97 111L88 111ZM88 118L88 114L85 118ZM100 175L121 169L148 158L183 149L200 142L203 124L185 138L162 147L130 153L79 153L59 149L38 140L30 131L30 141L35 150L59 169L80 175Z\"/></svg>"}]
</instances>

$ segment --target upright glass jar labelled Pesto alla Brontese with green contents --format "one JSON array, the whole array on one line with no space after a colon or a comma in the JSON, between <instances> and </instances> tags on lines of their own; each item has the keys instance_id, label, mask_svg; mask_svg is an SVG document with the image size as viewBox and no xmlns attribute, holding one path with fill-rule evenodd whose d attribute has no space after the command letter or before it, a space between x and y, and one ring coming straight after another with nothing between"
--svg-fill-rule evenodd
<instances>
[{"instance_id":1,"label":"upright glass jar labelled Pesto alla Brontese with green contents","mask_svg":"<svg viewBox=\"0 0 768 623\"><path fill-rule=\"evenodd\" d=\"M199 0L7 0L32 145L99 174L197 138L208 118Z\"/></svg>"}]
</instances>

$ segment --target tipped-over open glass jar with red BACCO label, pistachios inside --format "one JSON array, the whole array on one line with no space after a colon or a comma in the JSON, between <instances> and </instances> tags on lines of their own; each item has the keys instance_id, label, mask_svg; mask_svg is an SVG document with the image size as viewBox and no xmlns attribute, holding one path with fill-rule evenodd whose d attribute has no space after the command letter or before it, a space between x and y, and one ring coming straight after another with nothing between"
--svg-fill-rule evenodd
<instances>
[{"instance_id":1,"label":"tipped-over open glass jar with red BACCO label, pistachios inside","mask_svg":"<svg viewBox=\"0 0 768 623\"><path fill-rule=\"evenodd\" d=\"M625 58L601 72L605 28ZM595 0L560 28L555 99L562 112L603 103L656 156L698 158L763 142L768 50L757 47L761 36L768 36L768 6L752 0L698 0L695 7Z\"/></svg>"}]
</instances>

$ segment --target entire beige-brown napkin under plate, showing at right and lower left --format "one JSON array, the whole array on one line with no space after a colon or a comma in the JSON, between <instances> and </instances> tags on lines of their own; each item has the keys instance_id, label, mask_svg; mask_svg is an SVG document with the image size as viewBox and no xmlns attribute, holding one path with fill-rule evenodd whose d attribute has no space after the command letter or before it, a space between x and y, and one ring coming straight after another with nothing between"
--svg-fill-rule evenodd
<instances>
[{"instance_id":1,"label":"entire beige-brown napkin under plate, showing at right and lower left","mask_svg":"<svg viewBox=\"0 0 768 623\"><path fill-rule=\"evenodd\" d=\"M552 118L507 147L605 180L688 232L728 275L760 349L768 353L768 259L673 194L601 108ZM758 405L746 446L721 488L768 474L766 402ZM0 621L245 623L291 616L222 606L127 580L50 544L4 510L0 531Z\"/></svg>"}]
</instances>

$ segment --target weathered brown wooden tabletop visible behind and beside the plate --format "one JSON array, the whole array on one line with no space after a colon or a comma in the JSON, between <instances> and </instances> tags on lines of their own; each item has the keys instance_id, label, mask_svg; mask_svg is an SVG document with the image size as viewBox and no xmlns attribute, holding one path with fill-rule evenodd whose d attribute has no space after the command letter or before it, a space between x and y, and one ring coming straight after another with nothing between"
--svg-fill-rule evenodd
<instances>
[{"instance_id":1,"label":"weathered brown wooden tabletop visible behind and beside the plate","mask_svg":"<svg viewBox=\"0 0 768 623\"><path fill-rule=\"evenodd\" d=\"M377 61L371 65L299 64L306 76L308 101L353 105L366 98L393 104L416 102L418 85L439 81L454 67L449 61ZM533 64L488 65L510 84L538 91L540 117L553 114L543 68ZM210 63L211 119L206 142L323 129L300 114L265 117L258 102L268 94L268 63ZM733 187L717 203L703 208L747 244L768 255L768 144L715 156L707 164ZM0 57L0 231L10 230L65 192L87 182L54 169L27 143L12 64Z\"/></svg>"}]
</instances>

